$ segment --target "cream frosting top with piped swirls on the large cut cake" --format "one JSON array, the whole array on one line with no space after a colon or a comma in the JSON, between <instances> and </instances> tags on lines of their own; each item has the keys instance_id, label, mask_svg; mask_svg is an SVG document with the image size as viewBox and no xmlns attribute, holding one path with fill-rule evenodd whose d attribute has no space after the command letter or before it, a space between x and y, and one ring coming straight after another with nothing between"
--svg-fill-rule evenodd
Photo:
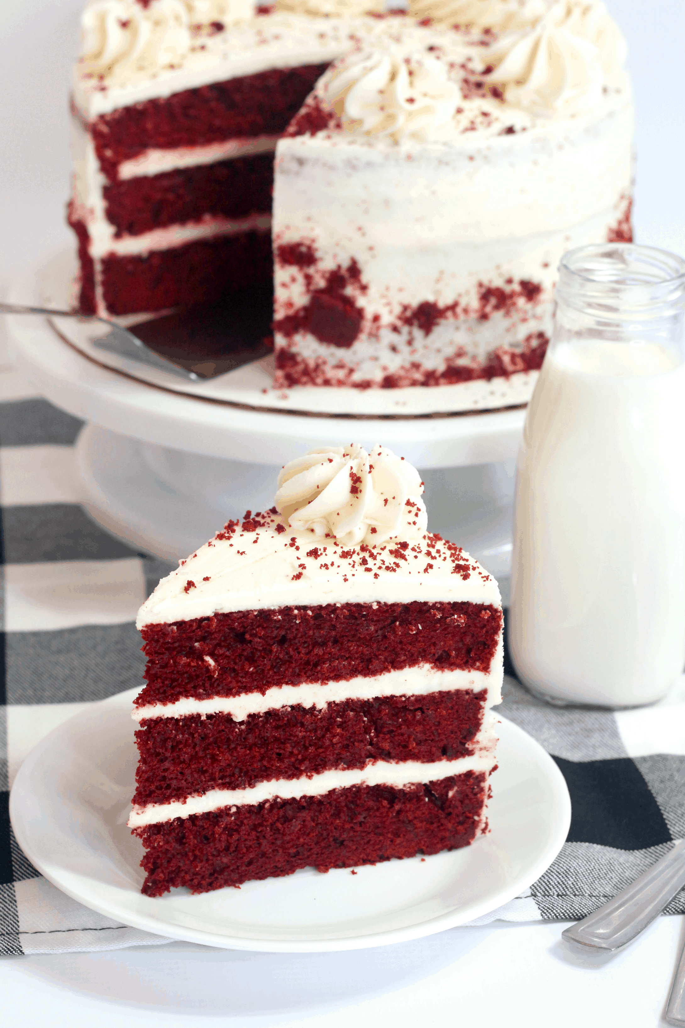
<instances>
[{"instance_id":1,"label":"cream frosting top with piped swirls on the large cut cake","mask_svg":"<svg viewBox=\"0 0 685 1028\"><path fill-rule=\"evenodd\" d=\"M601 0L419 0L412 17L370 17L379 11L361 0L283 0L267 16L255 11L253 0L89 0L75 83L79 109L91 117L218 78L325 63L355 49L359 81L350 66L339 85L350 97L346 117L360 120L364 132L412 125L424 134L417 138L443 138L436 130L469 100L464 72L499 89L497 105L480 89L480 105L537 116L572 117L605 99L605 87L625 85L625 43ZM468 131L488 132L487 119Z\"/></svg>"}]
</instances>

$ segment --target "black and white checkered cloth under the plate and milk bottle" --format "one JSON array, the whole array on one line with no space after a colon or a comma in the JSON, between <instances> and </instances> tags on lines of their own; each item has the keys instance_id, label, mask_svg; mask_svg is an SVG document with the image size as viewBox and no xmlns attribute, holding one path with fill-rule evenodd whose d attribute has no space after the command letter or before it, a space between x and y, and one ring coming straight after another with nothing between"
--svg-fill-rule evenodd
<instances>
[{"instance_id":1,"label":"black and white checkered cloth under the plate and milk bottle","mask_svg":"<svg viewBox=\"0 0 685 1028\"><path fill-rule=\"evenodd\" d=\"M170 565L137 553L79 505L80 423L0 367L0 954L117 949L165 940L80 906L42 878L10 830L8 796L29 750L79 710L141 681L136 612ZM480 918L578 918L685 835L685 677L667 701L611 713L550 708L505 666L499 709L553 755L571 830L549 870ZM667 913L685 913L685 890Z\"/></svg>"}]
</instances>

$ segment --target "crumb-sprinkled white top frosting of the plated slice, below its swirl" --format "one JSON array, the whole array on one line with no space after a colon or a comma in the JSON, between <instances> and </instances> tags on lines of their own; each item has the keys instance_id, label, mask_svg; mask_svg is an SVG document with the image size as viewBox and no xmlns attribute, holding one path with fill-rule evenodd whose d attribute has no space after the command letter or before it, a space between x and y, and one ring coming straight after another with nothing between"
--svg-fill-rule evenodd
<instances>
[{"instance_id":1,"label":"crumb-sprinkled white top frosting of the plated slice, below its swirl","mask_svg":"<svg viewBox=\"0 0 685 1028\"><path fill-rule=\"evenodd\" d=\"M257 531L238 524L229 538L211 540L162 579L139 611L138 627L231 611L339 602L500 605L495 580L463 550L434 536L346 548L336 540L321 542L308 529L278 531L284 527L278 515L269 513L263 520Z\"/></svg>"}]
</instances>

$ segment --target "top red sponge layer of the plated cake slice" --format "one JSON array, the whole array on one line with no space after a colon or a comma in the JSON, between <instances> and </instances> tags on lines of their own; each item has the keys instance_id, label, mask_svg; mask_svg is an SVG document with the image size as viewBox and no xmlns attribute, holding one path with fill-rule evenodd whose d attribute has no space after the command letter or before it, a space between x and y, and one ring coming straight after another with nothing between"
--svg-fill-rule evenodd
<instances>
[{"instance_id":1,"label":"top red sponge layer of the plated cake slice","mask_svg":"<svg viewBox=\"0 0 685 1028\"><path fill-rule=\"evenodd\" d=\"M497 608L468 602L327 603L150 624L142 632L147 686L135 702L263 695L272 686L341 682L422 663L487 673L500 625Z\"/></svg>"}]
</instances>

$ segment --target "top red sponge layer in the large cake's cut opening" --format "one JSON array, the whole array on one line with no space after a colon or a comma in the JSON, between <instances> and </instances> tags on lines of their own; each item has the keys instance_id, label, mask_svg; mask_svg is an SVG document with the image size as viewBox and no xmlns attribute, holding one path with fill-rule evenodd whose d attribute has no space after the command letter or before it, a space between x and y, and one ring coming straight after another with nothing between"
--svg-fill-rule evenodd
<instances>
[{"instance_id":1,"label":"top red sponge layer in the large cake's cut opening","mask_svg":"<svg viewBox=\"0 0 685 1028\"><path fill-rule=\"evenodd\" d=\"M278 136L327 67L272 68L102 114L89 125L101 168L115 182L122 161L149 149Z\"/></svg>"}]
</instances>

